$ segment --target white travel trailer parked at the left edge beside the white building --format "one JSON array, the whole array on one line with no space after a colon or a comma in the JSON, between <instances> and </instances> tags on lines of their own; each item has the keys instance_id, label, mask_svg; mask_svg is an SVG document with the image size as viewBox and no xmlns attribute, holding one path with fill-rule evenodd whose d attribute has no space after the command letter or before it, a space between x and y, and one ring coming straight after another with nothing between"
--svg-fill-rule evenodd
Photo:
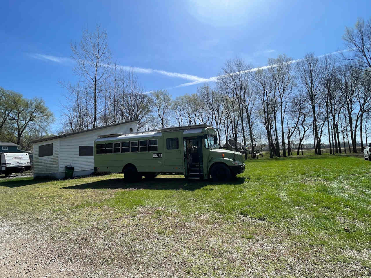
<instances>
[{"instance_id":1,"label":"white travel trailer parked at the left edge beside the white building","mask_svg":"<svg viewBox=\"0 0 371 278\"><path fill-rule=\"evenodd\" d=\"M23 173L31 168L26 152L0 152L0 174Z\"/></svg>"}]
</instances>

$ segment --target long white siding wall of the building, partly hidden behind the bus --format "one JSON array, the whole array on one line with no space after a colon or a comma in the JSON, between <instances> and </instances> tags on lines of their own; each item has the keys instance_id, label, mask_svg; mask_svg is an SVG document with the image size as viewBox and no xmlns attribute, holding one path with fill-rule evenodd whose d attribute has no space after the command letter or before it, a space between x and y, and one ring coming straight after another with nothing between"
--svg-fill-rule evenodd
<instances>
[{"instance_id":1,"label":"long white siding wall of the building, partly hidden behind the bus","mask_svg":"<svg viewBox=\"0 0 371 278\"><path fill-rule=\"evenodd\" d=\"M133 132L137 131L137 123L123 123L122 125L111 126L98 130L78 133L60 138L60 158L59 172L65 172L65 166L75 167L76 171L87 171L94 169L94 156L79 156L79 146L94 146L94 140L98 135L113 134L113 133L130 133L130 128Z\"/></svg>"}]
</instances>

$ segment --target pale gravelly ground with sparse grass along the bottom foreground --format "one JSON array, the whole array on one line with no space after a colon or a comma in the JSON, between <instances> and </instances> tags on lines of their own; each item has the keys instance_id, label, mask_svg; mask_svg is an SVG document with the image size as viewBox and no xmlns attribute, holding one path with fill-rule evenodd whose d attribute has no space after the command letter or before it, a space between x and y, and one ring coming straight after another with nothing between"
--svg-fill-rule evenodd
<instances>
[{"instance_id":1,"label":"pale gravelly ground with sparse grass along the bottom foreground","mask_svg":"<svg viewBox=\"0 0 371 278\"><path fill-rule=\"evenodd\" d=\"M264 221L159 210L64 232L47 219L1 219L0 277L371 277L370 249L329 253Z\"/></svg>"}]
</instances>

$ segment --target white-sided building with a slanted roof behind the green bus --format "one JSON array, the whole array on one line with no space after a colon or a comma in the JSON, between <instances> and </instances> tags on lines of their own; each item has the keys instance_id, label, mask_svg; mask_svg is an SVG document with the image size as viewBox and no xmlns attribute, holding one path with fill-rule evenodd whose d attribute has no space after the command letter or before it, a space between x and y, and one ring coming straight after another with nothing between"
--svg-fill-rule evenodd
<instances>
[{"instance_id":1,"label":"white-sided building with a slanted roof behind the green bus","mask_svg":"<svg viewBox=\"0 0 371 278\"><path fill-rule=\"evenodd\" d=\"M65 166L75 167L74 176L94 172L94 140L99 135L137 132L137 120L35 140L33 177L63 179Z\"/></svg>"}]
</instances>

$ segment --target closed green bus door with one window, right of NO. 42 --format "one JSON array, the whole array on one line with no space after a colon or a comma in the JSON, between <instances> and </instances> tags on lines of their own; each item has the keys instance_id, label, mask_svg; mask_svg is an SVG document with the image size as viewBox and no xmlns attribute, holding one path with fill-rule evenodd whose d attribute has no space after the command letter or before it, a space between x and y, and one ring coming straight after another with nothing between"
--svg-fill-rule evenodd
<instances>
[{"instance_id":1,"label":"closed green bus door with one window, right of NO. 42","mask_svg":"<svg viewBox=\"0 0 371 278\"><path fill-rule=\"evenodd\" d=\"M181 131L164 132L164 172L184 173L184 148Z\"/></svg>"}]
</instances>

